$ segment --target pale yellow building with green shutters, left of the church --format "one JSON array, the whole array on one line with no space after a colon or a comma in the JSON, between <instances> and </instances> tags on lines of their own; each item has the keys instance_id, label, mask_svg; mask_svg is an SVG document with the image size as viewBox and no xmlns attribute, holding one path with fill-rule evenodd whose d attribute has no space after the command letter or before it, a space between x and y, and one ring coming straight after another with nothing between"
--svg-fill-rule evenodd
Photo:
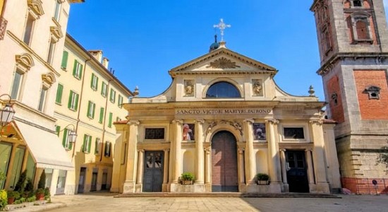
<instances>
[{"instance_id":1,"label":"pale yellow building with green shutters, left of the church","mask_svg":"<svg viewBox=\"0 0 388 212\"><path fill-rule=\"evenodd\" d=\"M66 175L66 194L111 187L116 129L126 119L122 104L131 91L108 70L102 51L87 51L66 35L56 90L54 117L59 139L75 171ZM68 131L77 139L70 143Z\"/></svg>"}]
</instances>

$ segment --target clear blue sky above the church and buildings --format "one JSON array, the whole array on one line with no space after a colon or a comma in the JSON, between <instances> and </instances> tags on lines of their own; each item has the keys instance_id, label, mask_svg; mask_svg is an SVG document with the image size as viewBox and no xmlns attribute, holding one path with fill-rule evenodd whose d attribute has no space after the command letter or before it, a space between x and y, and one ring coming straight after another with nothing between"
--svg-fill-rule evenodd
<instances>
[{"instance_id":1,"label":"clear blue sky above the church and buildings","mask_svg":"<svg viewBox=\"0 0 388 212\"><path fill-rule=\"evenodd\" d=\"M86 0L71 5L68 33L85 49L102 49L115 76L150 97L169 87L170 69L207 54L224 18L226 47L278 69L287 93L308 95L313 85L324 100L313 0L297 2Z\"/></svg>"}]
</instances>

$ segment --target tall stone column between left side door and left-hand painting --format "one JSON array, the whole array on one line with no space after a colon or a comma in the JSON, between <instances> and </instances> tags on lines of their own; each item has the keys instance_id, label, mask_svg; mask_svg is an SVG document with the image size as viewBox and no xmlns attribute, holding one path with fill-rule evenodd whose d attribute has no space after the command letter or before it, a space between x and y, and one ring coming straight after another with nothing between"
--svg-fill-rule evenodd
<instances>
[{"instance_id":1,"label":"tall stone column between left side door and left-hand painting","mask_svg":"<svg viewBox=\"0 0 388 212\"><path fill-rule=\"evenodd\" d=\"M178 178L181 176L181 165L182 165L182 159L181 159L181 143L182 143L182 124L183 121L181 119L176 119L173 121L175 125L175 143L174 143L174 175L172 183L177 184Z\"/></svg>"}]
</instances>

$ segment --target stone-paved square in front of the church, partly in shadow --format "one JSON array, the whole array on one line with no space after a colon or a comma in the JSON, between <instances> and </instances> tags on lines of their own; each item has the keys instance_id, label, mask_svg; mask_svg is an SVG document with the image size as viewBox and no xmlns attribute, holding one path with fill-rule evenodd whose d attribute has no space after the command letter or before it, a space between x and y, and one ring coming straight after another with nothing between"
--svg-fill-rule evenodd
<instances>
[{"instance_id":1,"label":"stone-paved square in front of the church, partly in shadow","mask_svg":"<svg viewBox=\"0 0 388 212\"><path fill-rule=\"evenodd\" d=\"M388 211L388 196L325 198L128 197L109 193L54 196L51 204L15 211Z\"/></svg>"}]
</instances>

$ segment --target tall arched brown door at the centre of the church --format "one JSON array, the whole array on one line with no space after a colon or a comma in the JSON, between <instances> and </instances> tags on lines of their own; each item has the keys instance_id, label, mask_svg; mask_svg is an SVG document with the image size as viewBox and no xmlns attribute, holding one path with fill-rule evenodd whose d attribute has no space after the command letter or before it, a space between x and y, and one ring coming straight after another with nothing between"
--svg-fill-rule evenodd
<instances>
[{"instance_id":1,"label":"tall arched brown door at the centre of the church","mask_svg":"<svg viewBox=\"0 0 388 212\"><path fill-rule=\"evenodd\" d=\"M238 192L236 138L219 131L212 138L212 192Z\"/></svg>"}]
</instances>

